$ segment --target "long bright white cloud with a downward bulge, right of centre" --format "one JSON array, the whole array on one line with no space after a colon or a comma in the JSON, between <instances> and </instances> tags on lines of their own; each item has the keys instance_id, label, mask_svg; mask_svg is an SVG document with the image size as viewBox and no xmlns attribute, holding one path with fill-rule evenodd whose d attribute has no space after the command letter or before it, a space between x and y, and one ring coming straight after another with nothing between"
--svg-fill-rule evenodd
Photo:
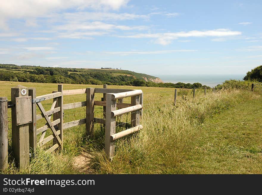
<instances>
[{"instance_id":1,"label":"long bright white cloud with a downward bulge, right of centre","mask_svg":"<svg viewBox=\"0 0 262 195\"><path fill-rule=\"evenodd\" d=\"M147 34L136 34L128 36L118 36L122 38L156 38L155 43L161 45L170 44L172 40L180 37L225 37L241 35L239 31L231 31L229 29L215 29L215 30L205 30L205 31L188 31L188 32L168 32L168 33L147 33Z\"/></svg>"}]
</instances>

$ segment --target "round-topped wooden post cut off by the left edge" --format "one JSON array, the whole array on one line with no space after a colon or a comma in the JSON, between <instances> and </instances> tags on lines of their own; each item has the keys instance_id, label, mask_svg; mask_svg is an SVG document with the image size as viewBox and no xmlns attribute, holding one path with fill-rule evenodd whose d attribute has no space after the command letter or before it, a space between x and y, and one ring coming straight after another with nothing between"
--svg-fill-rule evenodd
<instances>
[{"instance_id":1,"label":"round-topped wooden post cut off by the left edge","mask_svg":"<svg viewBox=\"0 0 262 195\"><path fill-rule=\"evenodd\" d=\"M8 116L7 97L0 97L0 171L8 165Z\"/></svg>"}]
</instances>

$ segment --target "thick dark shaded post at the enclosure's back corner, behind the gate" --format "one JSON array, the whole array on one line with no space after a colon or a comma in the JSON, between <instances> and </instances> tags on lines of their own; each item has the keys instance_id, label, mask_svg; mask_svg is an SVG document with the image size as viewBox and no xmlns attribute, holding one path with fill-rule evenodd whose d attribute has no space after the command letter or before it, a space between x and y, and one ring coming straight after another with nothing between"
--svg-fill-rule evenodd
<instances>
[{"instance_id":1,"label":"thick dark shaded post at the enclosure's back corner, behind the gate","mask_svg":"<svg viewBox=\"0 0 262 195\"><path fill-rule=\"evenodd\" d=\"M95 110L95 88L86 88L86 113L85 132L87 136L93 136Z\"/></svg>"}]
</instances>

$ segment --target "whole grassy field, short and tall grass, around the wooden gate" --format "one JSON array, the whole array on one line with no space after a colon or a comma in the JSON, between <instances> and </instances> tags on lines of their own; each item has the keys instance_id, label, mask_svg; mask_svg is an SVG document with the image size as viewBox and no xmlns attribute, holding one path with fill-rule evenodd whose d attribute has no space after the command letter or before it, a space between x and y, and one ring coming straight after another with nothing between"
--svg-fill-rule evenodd
<instances>
[{"instance_id":1,"label":"whole grassy field, short and tall grass, around the wooden gate","mask_svg":"<svg viewBox=\"0 0 262 195\"><path fill-rule=\"evenodd\" d=\"M57 90L57 84L0 83L0 96L8 99L11 87L18 84L35 87L37 96ZM99 85L63 85L64 90L87 87L102 88ZM261 96L234 89L218 93L208 91L204 96L202 90L197 90L193 99L192 90L178 89L180 95L177 105L173 106L173 88L108 88L141 89L144 92L144 117L141 120L144 129L116 141L116 156L112 163L103 152L105 132L100 124L95 124L93 139L85 138L85 127L81 125L64 130L62 152L45 154L39 149L28 169L18 170L14 163L10 163L6 173L82 173L73 166L74 157L82 151L91 156L90 173L261 173ZM102 94L96 94L95 99L101 97ZM85 94L64 96L64 104L80 101L85 101ZM125 102L130 102L130 98ZM46 110L51 104L51 100L43 102ZM102 107L96 107L95 117L102 118ZM128 121L129 117L124 116L123 120ZM85 118L85 107L65 110L64 122L80 118ZM44 123L43 119L38 121L37 127ZM240 163L241 167L238 166Z\"/></svg>"}]
</instances>

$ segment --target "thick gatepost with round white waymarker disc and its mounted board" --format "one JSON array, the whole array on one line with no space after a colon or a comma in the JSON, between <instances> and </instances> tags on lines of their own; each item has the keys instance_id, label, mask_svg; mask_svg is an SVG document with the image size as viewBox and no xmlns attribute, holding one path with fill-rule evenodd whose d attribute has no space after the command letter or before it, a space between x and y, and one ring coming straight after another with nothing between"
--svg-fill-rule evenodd
<instances>
[{"instance_id":1,"label":"thick gatepost with round white waymarker disc and its mounted board","mask_svg":"<svg viewBox=\"0 0 262 195\"><path fill-rule=\"evenodd\" d=\"M32 111L32 102L26 104L24 99L21 101L17 99L22 97L28 97L28 88L22 85L11 88L11 104L15 105L12 107L12 148L15 161L20 169L29 165L29 123L22 124L21 121L26 122L25 118L31 117L32 122L32 113L29 112ZM17 101L19 105L16 104Z\"/></svg>"}]
</instances>

